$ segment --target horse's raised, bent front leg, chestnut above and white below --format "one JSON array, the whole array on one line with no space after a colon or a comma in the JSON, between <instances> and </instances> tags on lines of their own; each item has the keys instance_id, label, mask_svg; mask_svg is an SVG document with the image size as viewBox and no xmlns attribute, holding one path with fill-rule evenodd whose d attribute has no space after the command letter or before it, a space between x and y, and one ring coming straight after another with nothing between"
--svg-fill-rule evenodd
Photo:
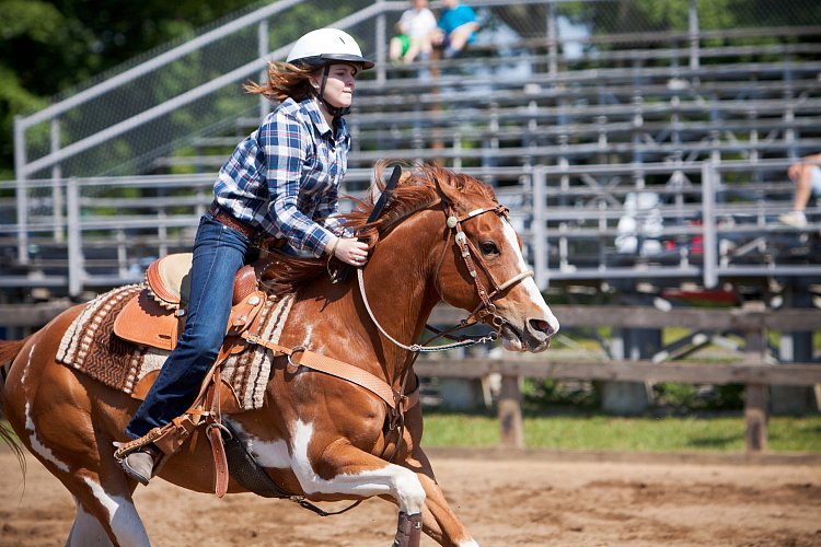
<instances>
[{"instance_id":1,"label":"horse's raised, bent front leg, chestnut above and white below","mask_svg":"<svg viewBox=\"0 0 821 547\"><path fill-rule=\"evenodd\" d=\"M293 468L305 493L390 497L400 509L394 547L418 547L426 489L417 475L339 440Z\"/></svg>"}]
</instances>

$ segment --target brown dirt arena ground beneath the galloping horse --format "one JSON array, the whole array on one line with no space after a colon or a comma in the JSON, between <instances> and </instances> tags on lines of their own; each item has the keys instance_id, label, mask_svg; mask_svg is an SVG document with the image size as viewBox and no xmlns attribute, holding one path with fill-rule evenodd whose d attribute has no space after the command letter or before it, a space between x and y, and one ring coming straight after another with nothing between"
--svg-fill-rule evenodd
<instances>
[{"instance_id":1,"label":"brown dirt arena ground beneath the galloping horse","mask_svg":"<svg viewBox=\"0 0 821 547\"><path fill-rule=\"evenodd\" d=\"M465 455L442 451L432 459L452 507L484 546L821 545L817 461ZM16 459L0 449L0 545L62 545L73 501L36 459L26 461L24 490ZM164 481L140 487L136 500L155 546L386 547L396 520L393 505L381 500L322 519L288 501L219 500ZM433 543L425 537L423 545Z\"/></svg>"}]
</instances>

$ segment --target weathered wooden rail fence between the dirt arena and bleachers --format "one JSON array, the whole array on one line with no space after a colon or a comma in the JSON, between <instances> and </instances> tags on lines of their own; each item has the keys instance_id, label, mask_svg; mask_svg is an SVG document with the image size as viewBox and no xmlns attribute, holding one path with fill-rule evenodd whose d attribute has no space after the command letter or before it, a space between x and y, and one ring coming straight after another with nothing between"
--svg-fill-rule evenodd
<instances>
[{"instance_id":1,"label":"weathered wooden rail fence between the dirt arena and bleachers","mask_svg":"<svg viewBox=\"0 0 821 547\"><path fill-rule=\"evenodd\" d=\"M70 305L55 302L0 307L0 326L39 326ZM490 373L501 375L498 405L500 439L504 446L523 447L520 379L603 380L624 382L685 382L705 384L743 384L747 450L766 449L767 392L773 385L814 386L821 384L820 363L780 363L765 361L767 330L785 333L821 330L818 310L761 309L672 309L649 306L552 306L564 327L613 326L624 328L685 327L699 330L740 331L747 339L738 363L662 362L649 360L563 361L551 357L508 354L505 359L425 359L415 368L421 376L479 379ZM464 313L437 309L435 324L458 323Z\"/></svg>"}]
</instances>

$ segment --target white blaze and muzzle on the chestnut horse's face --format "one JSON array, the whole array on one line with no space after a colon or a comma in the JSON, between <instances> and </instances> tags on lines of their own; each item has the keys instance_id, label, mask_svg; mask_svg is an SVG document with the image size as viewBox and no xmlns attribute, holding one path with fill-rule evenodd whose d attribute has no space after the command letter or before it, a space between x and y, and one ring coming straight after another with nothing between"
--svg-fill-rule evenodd
<instances>
[{"instance_id":1,"label":"white blaze and muzzle on the chestnut horse's face","mask_svg":"<svg viewBox=\"0 0 821 547\"><path fill-rule=\"evenodd\" d=\"M527 271L528 265L519 247L516 230L507 219L502 218L501 222L505 251L509 248L514 253L518 272ZM551 337L558 333L558 319L551 312L532 277L522 279L509 289L508 294L496 304L508 322L501 328L501 346L508 351L544 351L551 344Z\"/></svg>"}]
</instances>

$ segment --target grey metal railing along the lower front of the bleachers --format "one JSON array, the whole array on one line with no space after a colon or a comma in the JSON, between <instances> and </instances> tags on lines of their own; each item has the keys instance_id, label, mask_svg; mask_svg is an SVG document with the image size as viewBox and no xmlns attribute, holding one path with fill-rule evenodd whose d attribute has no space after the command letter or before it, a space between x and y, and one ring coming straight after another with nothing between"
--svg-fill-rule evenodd
<instances>
[{"instance_id":1,"label":"grey metal railing along the lower front of the bleachers","mask_svg":"<svg viewBox=\"0 0 821 547\"><path fill-rule=\"evenodd\" d=\"M771 196L790 188L755 182L762 170L784 172L787 166L784 161L537 165L517 170L519 184L501 186L497 195L511 209L543 289L552 280L616 282L637 276L692 279L707 288L735 277L821 278L818 256L797 259L794 253L796 242L811 243L817 225L797 233L778 224L776 217L789 210L789 202ZM504 167L463 172L501 179L514 174ZM637 187L633 177L639 172L646 177L663 177L667 183ZM370 177L368 170L354 170L347 183L365 187ZM620 177L626 184L614 187L612 181ZM0 287L68 287L68 294L78 296L85 290L140 281L153 258L189 251L199 216L211 200L213 176L68 178L30 184L65 193L67 216L32 217L26 230L37 248L32 265L37 275L7 271L0 276ZM0 183L0 191L13 185ZM90 193L94 187L105 191ZM140 190L139 197L135 189ZM93 197L84 197L88 195ZM605 203L620 195L635 199L588 211L574 205L579 196ZM41 199L49 200L47 196ZM0 202L0 211L10 205ZM48 203L45 207L48 209ZM813 205L808 216L819 218L821 208ZM0 247L20 237L12 225L5 228Z\"/></svg>"}]
</instances>

